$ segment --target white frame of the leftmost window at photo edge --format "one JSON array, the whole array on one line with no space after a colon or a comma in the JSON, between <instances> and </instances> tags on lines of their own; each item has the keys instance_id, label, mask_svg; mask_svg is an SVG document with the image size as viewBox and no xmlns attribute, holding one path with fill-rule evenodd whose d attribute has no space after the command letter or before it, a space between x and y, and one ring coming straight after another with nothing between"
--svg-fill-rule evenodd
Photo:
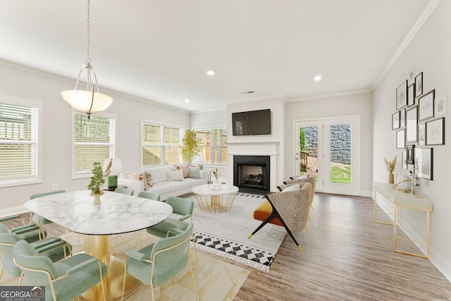
<instances>
[{"instance_id":1,"label":"white frame of the leftmost window at photo edge","mask_svg":"<svg viewBox=\"0 0 451 301\"><path fill-rule=\"evenodd\" d=\"M35 122L33 123L34 128L32 128L32 140L30 141L30 144L35 145L35 166L33 168L35 168L36 171L35 174L31 174L30 176L0 180L0 188L42 183L42 140L40 139L42 137L42 102L4 95L0 96L0 102L4 104L30 106L35 110Z\"/></svg>"}]
</instances>

